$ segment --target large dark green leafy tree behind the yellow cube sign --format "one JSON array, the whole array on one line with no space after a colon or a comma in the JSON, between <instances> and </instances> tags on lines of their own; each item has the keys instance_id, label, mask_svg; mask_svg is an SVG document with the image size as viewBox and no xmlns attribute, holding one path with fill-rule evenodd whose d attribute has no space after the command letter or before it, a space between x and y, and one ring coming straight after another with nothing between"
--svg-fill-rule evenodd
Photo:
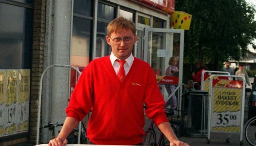
<instances>
[{"instance_id":1,"label":"large dark green leafy tree behind the yellow cube sign","mask_svg":"<svg viewBox=\"0 0 256 146\"><path fill-rule=\"evenodd\" d=\"M245 0L176 0L175 10L192 14L185 31L184 63L203 59L219 70L219 65L246 55L256 38L255 9Z\"/></svg>"}]
</instances>

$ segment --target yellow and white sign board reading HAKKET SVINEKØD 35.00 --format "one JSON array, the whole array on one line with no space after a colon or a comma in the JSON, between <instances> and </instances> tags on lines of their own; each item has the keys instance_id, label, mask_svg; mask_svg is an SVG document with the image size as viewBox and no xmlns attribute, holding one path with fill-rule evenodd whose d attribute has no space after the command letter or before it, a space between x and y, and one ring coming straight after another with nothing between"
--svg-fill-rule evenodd
<instances>
[{"instance_id":1,"label":"yellow and white sign board reading HAKKET SVINEK\u00d8D 35.00","mask_svg":"<svg viewBox=\"0 0 256 146\"><path fill-rule=\"evenodd\" d=\"M242 81L213 80L210 125L212 132L240 132L242 89Z\"/></svg>"}]
</instances>

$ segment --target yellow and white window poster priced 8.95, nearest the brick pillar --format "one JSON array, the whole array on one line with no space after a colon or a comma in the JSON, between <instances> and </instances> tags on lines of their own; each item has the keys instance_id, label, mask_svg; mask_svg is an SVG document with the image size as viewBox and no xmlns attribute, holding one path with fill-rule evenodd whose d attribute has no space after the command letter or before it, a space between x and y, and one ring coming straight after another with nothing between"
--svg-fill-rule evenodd
<instances>
[{"instance_id":1,"label":"yellow and white window poster priced 8.95, nearest the brick pillar","mask_svg":"<svg viewBox=\"0 0 256 146\"><path fill-rule=\"evenodd\" d=\"M30 70L19 70L19 96L17 105L17 132L29 130Z\"/></svg>"}]
</instances>

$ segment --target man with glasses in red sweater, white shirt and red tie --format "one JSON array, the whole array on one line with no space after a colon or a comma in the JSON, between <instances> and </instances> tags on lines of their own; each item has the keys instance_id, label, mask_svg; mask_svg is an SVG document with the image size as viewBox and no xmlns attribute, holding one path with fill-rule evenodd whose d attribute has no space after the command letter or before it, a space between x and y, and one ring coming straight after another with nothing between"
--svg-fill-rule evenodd
<instances>
[{"instance_id":1,"label":"man with glasses in red sweater, white shirt and red tie","mask_svg":"<svg viewBox=\"0 0 256 146\"><path fill-rule=\"evenodd\" d=\"M132 55L137 40L135 24L118 17L109 23L107 33L111 55L94 59L86 66L66 108L67 117L61 132L49 145L67 144L69 133L91 109L87 128L91 144L142 145L145 103L146 115L154 120L171 142L170 146L186 146L170 127L153 70ZM119 60L125 60L123 69ZM119 70L124 70L122 79Z\"/></svg>"}]
</instances>

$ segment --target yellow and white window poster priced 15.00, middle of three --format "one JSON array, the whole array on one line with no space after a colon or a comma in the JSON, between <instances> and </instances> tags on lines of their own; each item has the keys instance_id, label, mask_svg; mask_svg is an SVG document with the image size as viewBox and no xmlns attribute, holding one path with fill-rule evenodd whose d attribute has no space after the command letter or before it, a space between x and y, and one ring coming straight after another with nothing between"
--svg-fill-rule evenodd
<instances>
[{"instance_id":1,"label":"yellow and white window poster priced 15.00, middle of three","mask_svg":"<svg viewBox=\"0 0 256 146\"><path fill-rule=\"evenodd\" d=\"M16 133L18 70L6 70L5 135Z\"/></svg>"}]
</instances>

